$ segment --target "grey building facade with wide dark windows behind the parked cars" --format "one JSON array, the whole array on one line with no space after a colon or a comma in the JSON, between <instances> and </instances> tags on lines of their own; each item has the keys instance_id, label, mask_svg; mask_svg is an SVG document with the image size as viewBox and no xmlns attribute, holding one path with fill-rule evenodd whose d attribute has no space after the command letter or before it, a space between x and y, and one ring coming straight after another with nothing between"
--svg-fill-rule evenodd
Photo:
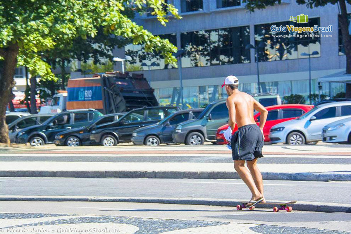
<instances>
[{"instance_id":1,"label":"grey building facade with wide dark windows behind the parked cars","mask_svg":"<svg viewBox=\"0 0 351 234\"><path fill-rule=\"evenodd\" d=\"M179 9L181 20L171 19L164 27L152 14L137 15L137 24L154 35L170 40L185 52L181 58L184 104L197 108L226 94L221 84L225 76L236 75L241 91L287 96L309 94L309 56L311 89L318 93L317 80L345 71L341 35L338 29L338 5L307 8L296 1L250 13L238 0L168 0ZM351 8L347 5L351 12ZM290 16L308 15L307 23L289 20ZM272 32L272 25L328 27L331 32ZM299 35L299 36L297 36ZM301 36L302 35L302 36ZM262 44L263 42L263 44ZM248 49L251 44L256 49ZM179 104L179 69L164 63L160 54L145 53L143 45L127 45L114 55L124 58L126 70L144 73L155 88L161 105ZM120 63L115 70L120 70ZM180 61L178 62L180 66ZM345 83L323 82L320 94L330 97L345 92Z\"/></svg>"}]
</instances>

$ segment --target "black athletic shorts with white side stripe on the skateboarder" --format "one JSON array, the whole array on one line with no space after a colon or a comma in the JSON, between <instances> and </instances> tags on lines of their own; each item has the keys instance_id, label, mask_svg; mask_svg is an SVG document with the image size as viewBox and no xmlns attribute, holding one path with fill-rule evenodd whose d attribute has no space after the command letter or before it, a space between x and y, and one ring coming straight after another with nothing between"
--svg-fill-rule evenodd
<instances>
[{"instance_id":1,"label":"black athletic shorts with white side stripe on the skateboarder","mask_svg":"<svg viewBox=\"0 0 351 234\"><path fill-rule=\"evenodd\" d=\"M238 128L231 140L233 160L251 161L262 158L263 136L257 124Z\"/></svg>"}]
</instances>

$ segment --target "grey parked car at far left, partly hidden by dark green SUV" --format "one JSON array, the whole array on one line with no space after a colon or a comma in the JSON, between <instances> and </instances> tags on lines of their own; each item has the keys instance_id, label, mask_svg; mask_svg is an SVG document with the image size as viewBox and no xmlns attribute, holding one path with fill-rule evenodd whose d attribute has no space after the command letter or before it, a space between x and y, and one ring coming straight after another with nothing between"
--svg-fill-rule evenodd
<instances>
[{"instance_id":1,"label":"grey parked car at far left, partly hidden by dark green SUV","mask_svg":"<svg viewBox=\"0 0 351 234\"><path fill-rule=\"evenodd\" d=\"M22 116L8 125L8 136L11 142L16 142L16 135L22 129L34 125L41 125L54 114L33 114Z\"/></svg>"}]
</instances>

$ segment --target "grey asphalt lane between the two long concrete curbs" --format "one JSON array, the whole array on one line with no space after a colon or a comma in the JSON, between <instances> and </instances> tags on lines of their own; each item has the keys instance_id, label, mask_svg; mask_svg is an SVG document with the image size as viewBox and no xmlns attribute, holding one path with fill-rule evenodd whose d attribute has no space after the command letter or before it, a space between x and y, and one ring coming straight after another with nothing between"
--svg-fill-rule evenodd
<instances>
[{"instance_id":1,"label":"grey asphalt lane between the two long concrete curbs","mask_svg":"<svg viewBox=\"0 0 351 234\"><path fill-rule=\"evenodd\" d=\"M148 198L251 198L241 180L127 178L0 178L0 195ZM351 203L351 182L264 181L269 201Z\"/></svg>"}]
</instances>

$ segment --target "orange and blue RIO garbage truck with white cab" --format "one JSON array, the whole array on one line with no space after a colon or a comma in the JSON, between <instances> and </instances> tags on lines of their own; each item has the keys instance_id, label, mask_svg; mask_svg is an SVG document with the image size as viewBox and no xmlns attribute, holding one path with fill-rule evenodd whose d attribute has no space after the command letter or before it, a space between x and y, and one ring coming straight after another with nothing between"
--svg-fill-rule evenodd
<instances>
[{"instance_id":1,"label":"orange and blue RIO garbage truck with white cab","mask_svg":"<svg viewBox=\"0 0 351 234\"><path fill-rule=\"evenodd\" d=\"M154 89L143 74L106 72L92 78L69 79L67 91L55 94L50 105L41 107L39 113L92 108L110 114L158 105Z\"/></svg>"}]
</instances>

